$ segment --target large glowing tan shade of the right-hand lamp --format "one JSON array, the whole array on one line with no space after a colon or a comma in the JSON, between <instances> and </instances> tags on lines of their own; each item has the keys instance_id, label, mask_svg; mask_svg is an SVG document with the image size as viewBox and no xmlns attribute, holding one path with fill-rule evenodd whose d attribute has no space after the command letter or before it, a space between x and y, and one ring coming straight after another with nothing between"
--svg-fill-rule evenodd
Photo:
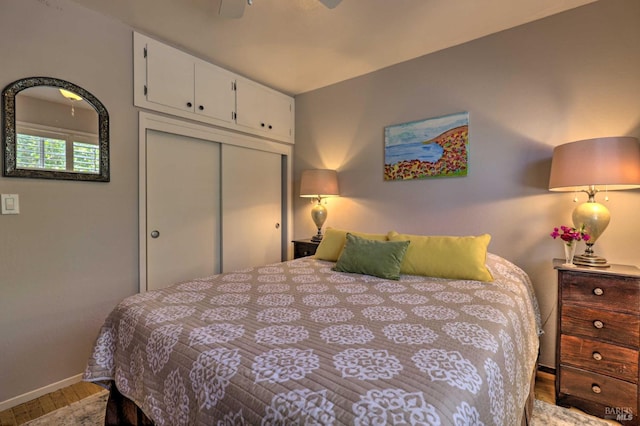
<instances>
[{"instance_id":1,"label":"large glowing tan shade of the right-hand lamp","mask_svg":"<svg viewBox=\"0 0 640 426\"><path fill-rule=\"evenodd\" d=\"M607 190L640 188L640 143L632 137L585 139L553 150L550 191L584 186Z\"/></svg>"}]
</instances>

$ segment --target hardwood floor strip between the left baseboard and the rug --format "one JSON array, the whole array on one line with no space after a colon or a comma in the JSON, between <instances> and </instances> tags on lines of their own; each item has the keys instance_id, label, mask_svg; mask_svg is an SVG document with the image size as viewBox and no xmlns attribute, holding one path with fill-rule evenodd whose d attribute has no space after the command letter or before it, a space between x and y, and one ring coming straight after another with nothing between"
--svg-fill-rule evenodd
<instances>
[{"instance_id":1,"label":"hardwood floor strip between the left baseboard and the rug","mask_svg":"<svg viewBox=\"0 0 640 426\"><path fill-rule=\"evenodd\" d=\"M79 382L48 393L24 404L0 411L0 426L17 426L51 411L100 392L102 387L88 382Z\"/></svg>"}]
</instances>

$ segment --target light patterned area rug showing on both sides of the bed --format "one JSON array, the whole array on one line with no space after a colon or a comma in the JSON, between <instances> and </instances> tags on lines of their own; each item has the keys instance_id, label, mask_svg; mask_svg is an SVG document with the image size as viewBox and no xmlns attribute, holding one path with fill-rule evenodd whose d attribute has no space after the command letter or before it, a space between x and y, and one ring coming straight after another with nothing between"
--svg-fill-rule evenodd
<instances>
[{"instance_id":1,"label":"light patterned area rug showing on both sides of the bed","mask_svg":"<svg viewBox=\"0 0 640 426\"><path fill-rule=\"evenodd\" d=\"M108 397L107 391L91 395L81 401L52 411L31 420L29 426L98 426L104 424L104 409ZM611 426L604 420L588 416L578 411L568 410L556 405L536 400L533 408L533 426ZM615 424L615 423L614 423Z\"/></svg>"}]
</instances>

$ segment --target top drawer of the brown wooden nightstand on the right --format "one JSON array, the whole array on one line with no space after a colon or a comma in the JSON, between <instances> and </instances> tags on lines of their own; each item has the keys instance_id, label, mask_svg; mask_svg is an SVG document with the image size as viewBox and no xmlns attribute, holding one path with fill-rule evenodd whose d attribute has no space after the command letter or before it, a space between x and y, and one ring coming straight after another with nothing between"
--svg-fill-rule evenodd
<instances>
[{"instance_id":1,"label":"top drawer of the brown wooden nightstand on the right","mask_svg":"<svg viewBox=\"0 0 640 426\"><path fill-rule=\"evenodd\" d=\"M560 280L564 303L640 314L640 281L637 278L563 271Z\"/></svg>"}]
</instances>

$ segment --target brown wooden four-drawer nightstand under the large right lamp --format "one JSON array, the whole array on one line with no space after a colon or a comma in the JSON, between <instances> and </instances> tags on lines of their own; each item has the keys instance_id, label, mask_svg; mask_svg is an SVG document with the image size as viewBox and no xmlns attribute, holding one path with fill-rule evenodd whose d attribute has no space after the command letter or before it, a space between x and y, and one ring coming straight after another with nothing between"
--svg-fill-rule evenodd
<instances>
[{"instance_id":1,"label":"brown wooden four-drawer nightstand under the large right lamp","mask_svg":"<svg viewBox=\"0 0 640 426\"><path fill-rule=\"evenodd\" d=\"M554 267L556 404L640 425L640 269Z\"/></svg>"}]
</instances>

